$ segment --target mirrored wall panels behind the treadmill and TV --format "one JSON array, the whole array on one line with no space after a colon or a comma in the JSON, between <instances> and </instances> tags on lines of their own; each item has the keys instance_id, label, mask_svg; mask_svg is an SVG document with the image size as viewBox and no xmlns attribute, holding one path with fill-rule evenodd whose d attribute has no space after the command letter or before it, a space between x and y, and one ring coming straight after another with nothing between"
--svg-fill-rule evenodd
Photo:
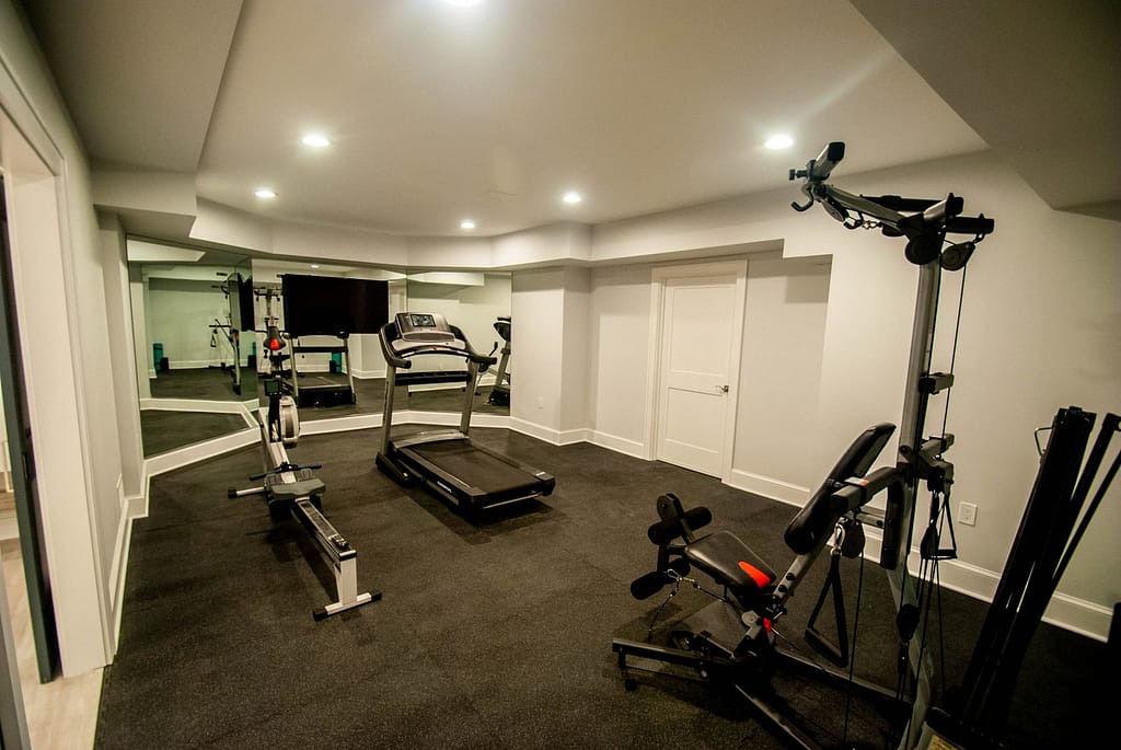
<instances>
[{"instance_id":1,"label":"mirrored wall panels behind the treadmill and TV","mask_svg":"<svg viewBox=\"0 0 1121 750\"><path fill-rule=\"evenodd\" d=\"M229 250L129 239L135 352L145 456L250 428L265 405L261 376L266 320L285 327L284 275L385 280L390 315L406 309L444 315L480 352L501 360L509 348L509 272L424 271L276 261ZM239 307L238 283L251 285L251 305ZM252 322L250 322L250 320ZM379 415L386 362L377 334L303 336L289 341L285 378L300 398L300 422ZM509 388L516 355L507 352ZM426 358L425 369L462 369L462 360ZM291 365L295 365L294 371ZM493 392L499 367L480 379L476 414L509 414L509 393ZM291 381L295 381L294 383ZM500 391L502 389L499 389ZM457 386L414 386L395 395L396 409L457 414L466 393Z\"/></svg>"}]
</instances>

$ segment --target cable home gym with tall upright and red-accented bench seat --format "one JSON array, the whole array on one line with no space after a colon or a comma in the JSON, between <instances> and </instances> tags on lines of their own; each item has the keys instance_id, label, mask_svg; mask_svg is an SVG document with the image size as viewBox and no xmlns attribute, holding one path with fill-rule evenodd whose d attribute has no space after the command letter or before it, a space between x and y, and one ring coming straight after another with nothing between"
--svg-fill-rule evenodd
<instances>
[{"instance_id":1,"label":"cable home gym with tall upright and red-accented bench seat","mask_svg":"<svg viewBox=\"0 0 1121 750\"><path fill-rule=\"evenodd\" d=\"M706 509L685 510L673 496L663 496L658 501L661 521L650 527L648 534L650 540L659 546L657 570L631 584L632 595L643 599L664 585L673 585L676 592L679 583L687 581L684 576L692 565L723 585L739 605L729 608L729 596L725 595L716 608L717 620L702 623L700 628L687 622L691 635L684 647L666 648L617 639L613 648L624 674L631 656L692 666L702 675L712 669L730 670L732 686L759 710L761 716L798 747L817 748L817 742L770 697L770 674L779 661L778 657L794 656L777 648L772 624L786 613L786 599L822 552L828 537L833 536L830 575L809 618L806 640L834 664L844 666L849 661L849 642L836 566L841 556L862 554L861 526L876 526L882 530L880 565L888 571L900 645L898 684L893 695L890 692L888 695L905 705L909 704L910 717L899 735L899 747L911 750L917 747L932 700L932 659L925 648L923 608L929 605L937 561L956 556L953 544L943 548L941 541L944 525L949 525L953 541L949 491L954 467L946 461L945 453L954 438L944 429L935 436L927 436L926 433L930 397L946 392L954 382L953 367L948 373L930 371L938 291L942 271L962 271L978 243L993 231L994 224L984 214L963 216L964 201L953 194L941 200L867 196L830 185L826 180L843 157L844 143L832 142L817 158L807 163L805 169L791 169L790 179L804 180L802 192L808 198L806 203L794 203L793 206L797 211L807 211L819 203L846 229L879 229L888 237L905 238L905 256L919 267L897 463L865 476L895 426L878 425L861 435L787 528L785 541L798 557L781 577L734 535L726 531L697 535L696 529L712 518ZM966 234L972 239L947 242L949 234ZM916 583L908 572L907 557L911 548L918 492L924 482L930 492L930 509L919 544L923 567ZM878 493L884 491L887 501L882 512L868 507ZM828 642L815 627L830 593L834 598L837 643ZM717 635L722 628L730 631L730 638ZM781 661L789 665L791 659L784 658ZM824 668L821 673L832 674ZM852 674L843 679L851 687L877 692L876 686L861 684Z\"/></svg>"}]
</instances>

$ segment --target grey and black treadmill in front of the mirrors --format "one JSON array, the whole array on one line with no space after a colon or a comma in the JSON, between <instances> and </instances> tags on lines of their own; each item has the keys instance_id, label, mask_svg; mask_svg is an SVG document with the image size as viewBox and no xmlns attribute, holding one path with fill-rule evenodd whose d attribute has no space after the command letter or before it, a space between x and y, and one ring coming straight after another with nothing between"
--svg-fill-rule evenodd
<instances>
[{"instance_id":1,"label":"grey and black treadmill in front of the mirrors","mask_svg":"<svg viewBox=\"0 0 1121 750\"><path fill-rule=\"evenodd\" d=\"M423 482L465 512L552 494L556 480L538 469L479 445L467 436L471 406L481 368L494 358L472 349L458 327L436 313L398 313L381 327L386 358L386 407L378 467L402 485ZM413 358L445 354L462 358L466 370L413 371ZM397 386L462 382L458 429L423 432L395 439L393 391Z\"/></svg>"}]
</instances>

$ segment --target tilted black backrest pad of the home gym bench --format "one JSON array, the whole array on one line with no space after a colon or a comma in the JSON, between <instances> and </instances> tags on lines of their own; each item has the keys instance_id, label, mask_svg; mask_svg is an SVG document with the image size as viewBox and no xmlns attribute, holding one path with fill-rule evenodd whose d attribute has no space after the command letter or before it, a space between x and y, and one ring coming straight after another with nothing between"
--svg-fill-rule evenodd
<instances>
[{"instance_id":1,"label":"tilted black backrest pad of the home gym bench","mask_svg":"<svg viewBox=\"0 0 1121 750\"><path fill-rule=\"evenodd\" d=\"M799 555L805 555L819 544L824 544L825 538L833 533L837 519L841 518L841 513L830 507L830 497L844 480L868 473L893 432L896 432L895 425L881 423L869 427L852 442L833 466L833 471L809 498L809 502L786 527L784 538L787 547Z\"/></svg>"}]
</instances>

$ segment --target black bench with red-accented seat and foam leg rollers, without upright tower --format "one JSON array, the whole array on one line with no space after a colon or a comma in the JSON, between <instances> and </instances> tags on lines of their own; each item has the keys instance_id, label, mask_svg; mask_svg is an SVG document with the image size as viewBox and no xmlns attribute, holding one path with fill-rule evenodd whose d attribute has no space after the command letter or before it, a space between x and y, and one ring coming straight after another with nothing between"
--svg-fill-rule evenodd
<instances>
[{"instance_id":1,"label":"black bench with red-accented seat and foam leg rollers, without upright tower","mask_svg":"<svg viewBox=\"0 0 1121 750\"><path fill-rule=\"evenodd\" d=\"M686 577L693 568L712 578L723 593L714 594L716 601L676 623L675 646L614 639L612 650L618 655L627 688L637 687L636 680L629 676L629 670L636 668L632 659L691 667L703 679L720 674L728 677L740 695L798 746L818 747L769 700L773 694L770 680L778 664L786 659L806 663L804 658L776 647L773 623L786 614L787 600L794 595L806 571L831 540L835 544L834 556L842 552L846 556L856 556L863 549L863 531L856 516L862 515L861 509L879 491L900 481L899 471L893 466L869 474L893 432L895 425L884 423L861 433L794 517L784 539L797 557L781 576L732 531L700 533L713 519L707 508L685 510L675 494L659 497L656 507L660 520L647 530L648 538L658 548L656 568L631 583L631 594L645 600L667 585L674 586L676 593L682 582L700 589L696 581ZM821 609L824 594L823 590L816 609ZM813 620L810 618L810 630ZM837 632L843 632L840 621ZM816 640L823 643L815 643L815 639L808 636L807 640L832 660L837 660L836 651L842 649L821 637ZM846 647L843 651L847 657ZM858 686L868 687L880 697L893 697L890 692L877 686Z\"/></svg>"}]
</instances>

